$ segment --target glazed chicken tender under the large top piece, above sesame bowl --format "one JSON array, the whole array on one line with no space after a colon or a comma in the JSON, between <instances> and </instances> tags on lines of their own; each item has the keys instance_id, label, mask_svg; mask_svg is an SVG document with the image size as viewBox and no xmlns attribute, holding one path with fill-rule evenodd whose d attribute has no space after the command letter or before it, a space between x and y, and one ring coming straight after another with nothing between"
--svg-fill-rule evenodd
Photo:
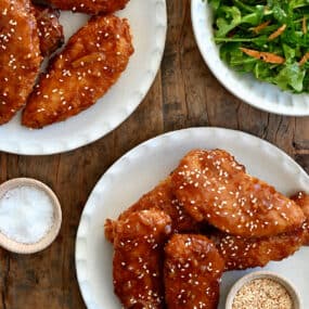
<instances>
[{"instance_id":1,"label":"glazed chicken tender under the large top piece, above sesame bowl","mask_svg":"<svg viewBox=\"0 0 309 309\"><path fill-rule=\"evenodd\" d=\"M304 244L306 230L283 233L270 237L244 239L220 231L209 235L226 261L226 270L265 267L268 262L282 260L297 252Z\"/></svg>"}]
</instances>

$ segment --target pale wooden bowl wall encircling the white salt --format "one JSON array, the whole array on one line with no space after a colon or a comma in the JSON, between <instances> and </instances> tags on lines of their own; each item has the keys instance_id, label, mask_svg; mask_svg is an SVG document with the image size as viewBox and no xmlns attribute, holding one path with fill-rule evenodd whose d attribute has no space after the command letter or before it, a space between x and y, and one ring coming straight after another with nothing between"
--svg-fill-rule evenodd
<instances>
[{"instance_id":1,"label":"pale wooden bowl wall encircling the white salt","mask_svg":"<svg viewBox=\"0 0 309 309\"><path fill-rule=\"evenodd\" d=\"M54 192L44 183L31 178L15 178L3 182L0 185L0 198L10 190L18 186L35 186L43 191L50 197L53 205L53 224L48 233L37 243L24 244L9 239L0 232L0 246L16 254L34 254L47 248L60 232L62 222L62 211L60 202Z\"/></svg>"}]
</instances>

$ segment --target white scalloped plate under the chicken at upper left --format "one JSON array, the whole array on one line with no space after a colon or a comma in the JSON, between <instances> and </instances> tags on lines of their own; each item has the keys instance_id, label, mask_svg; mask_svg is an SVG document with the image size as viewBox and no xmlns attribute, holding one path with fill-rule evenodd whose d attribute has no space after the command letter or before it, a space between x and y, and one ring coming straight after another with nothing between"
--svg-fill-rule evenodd
<instances>
[{"instance_id":1,"label":"white scalloped plate under the chicken at upper left","mask_svg":"<svg viewBox=\"0 0 309 309\"><path fill-rule=\"evenodd\" d=\"M131 0L124 11L133 36L134 54L117 83L99 102L68 120L41 130L21 126L21 114L0 127L0 150L27 155L74 150L105 136L121 124L149 91L162 60L166 27L165 0ZM62 12L68 38L88 20L87 15Z\"/></svg>"}]
</instances>

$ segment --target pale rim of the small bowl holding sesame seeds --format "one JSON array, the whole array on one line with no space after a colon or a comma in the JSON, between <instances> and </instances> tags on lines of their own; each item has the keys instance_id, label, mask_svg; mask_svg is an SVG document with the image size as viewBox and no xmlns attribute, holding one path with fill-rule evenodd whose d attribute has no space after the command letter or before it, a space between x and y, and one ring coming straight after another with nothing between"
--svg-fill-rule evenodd
<instances>
[{"instance_id":1,"label":"pale rim of the small bowl holding sesame seeds","mask_svg":"<svg viewBox=\"0 0 309 309\"><path fill-rule=\"evenodd\" d=\"M284 286L286 288L287 293L289 294L292 301L293 301L293 305L294 305L293 309L302 309L300 296L297 293L294 285L291 282L288 282L286 279L284 279L283 276L276 274L274 272L270 272L270 271L252 272L252 273L248 273L247 275L241 278L239 281L236 281L235 284L232 286L232 288L231 288L231 291L227 297L226 309L232 309L233 300L234 300L234 297L236 296L237 292L246 283L248 283L253 280L256 280L256 279L271 279L271 280L278 282L279 284Z\"/></svg>"}]
</instances>

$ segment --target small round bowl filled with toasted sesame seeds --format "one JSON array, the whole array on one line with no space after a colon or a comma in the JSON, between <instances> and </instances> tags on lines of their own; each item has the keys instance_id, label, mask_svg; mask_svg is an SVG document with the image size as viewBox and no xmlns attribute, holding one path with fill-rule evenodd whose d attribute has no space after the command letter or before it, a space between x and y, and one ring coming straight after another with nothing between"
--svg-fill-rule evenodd
<instances>
[{"instance_id":1,"label":"small round bowl filled with toasted sesame seeds","mask_svg":"<svg viewBox=\"0 0 309 309\"><path fill-rule=\"evenodd\" d=\"M269 271L241 278L232 286L226 309L302 309L300 296L286 279Z\"/></svg>"}]
</instances>

